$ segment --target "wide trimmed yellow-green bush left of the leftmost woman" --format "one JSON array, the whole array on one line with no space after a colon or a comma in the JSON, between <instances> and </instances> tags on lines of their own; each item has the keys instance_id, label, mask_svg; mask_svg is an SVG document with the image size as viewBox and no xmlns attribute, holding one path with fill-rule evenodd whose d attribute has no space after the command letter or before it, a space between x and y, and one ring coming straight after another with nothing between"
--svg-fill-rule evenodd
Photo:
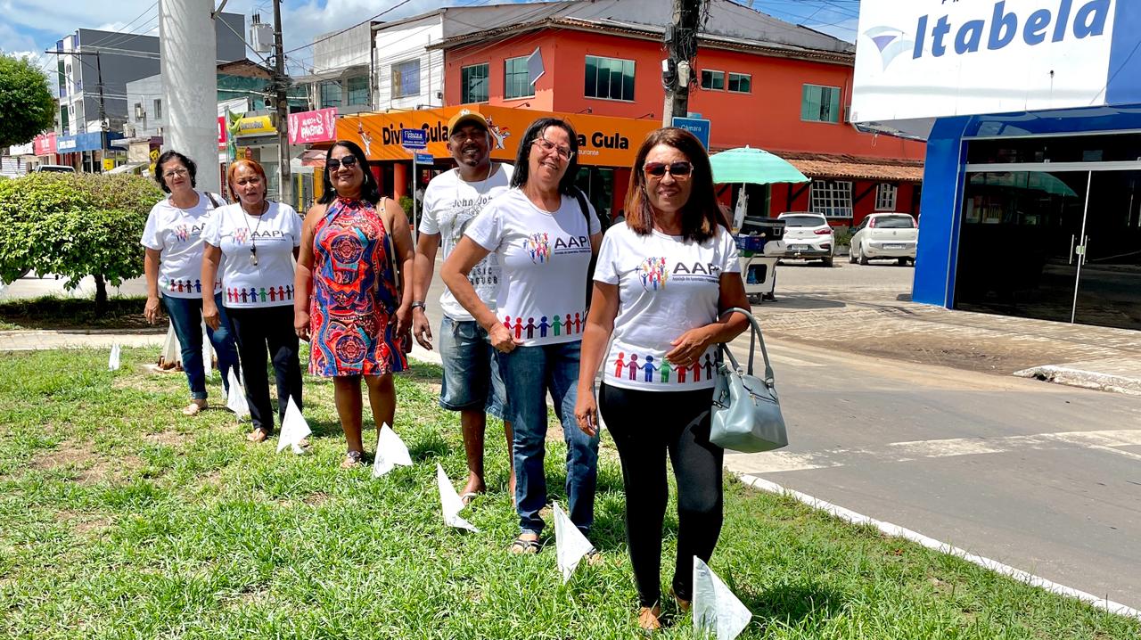
<instances>
[{"instance_id":1,"label":"wide trimmed yellow-green bush left of the leftmost woman","mask_svg":"<svg viewBox=\"0 0 1141 640\"><path fill-rule=\"evenodd\" d=\"M162 197L154 180L98 173L31 173L0 181L0 280L27 269L65 276L66 289L95 277L96 310L107 283L143 274L143 227Z\"/></svg>"}]
</instances>

